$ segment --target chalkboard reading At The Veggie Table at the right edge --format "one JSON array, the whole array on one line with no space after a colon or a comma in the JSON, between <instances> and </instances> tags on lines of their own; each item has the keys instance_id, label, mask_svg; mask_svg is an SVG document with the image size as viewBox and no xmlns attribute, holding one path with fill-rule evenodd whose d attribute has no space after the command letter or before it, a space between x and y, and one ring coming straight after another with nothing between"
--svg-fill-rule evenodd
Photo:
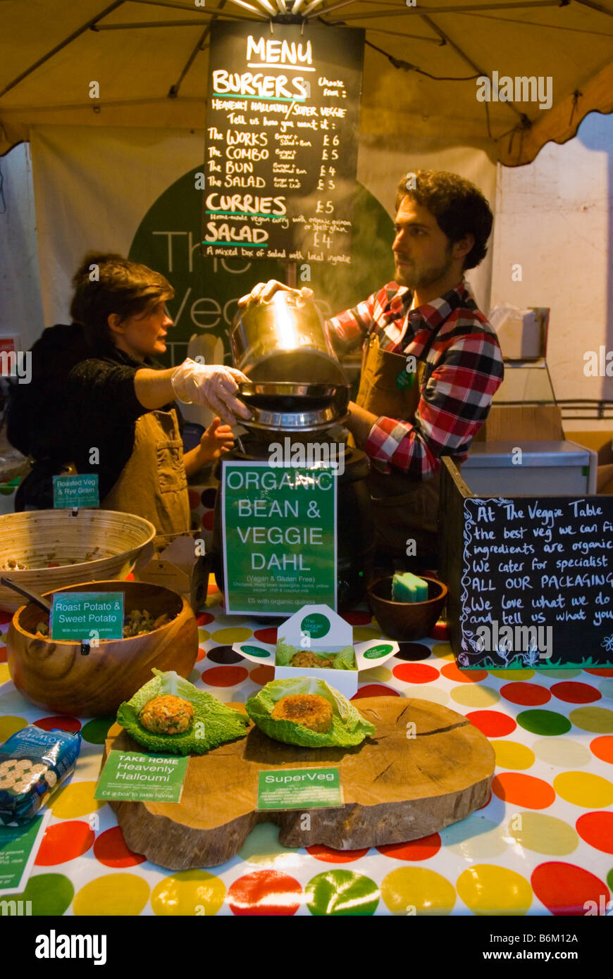
<instances>
[{"instance_id":1,"label":"chalkboard reading At The Veggie Table at the right edge","mask_svg":"<svg viewBox=\"0 0 613 979\"><path fill-rule=\"evenodd\" d=\"M460 666L613 661L613 497L465 498Z\"/></svg>"}]
</instances>

